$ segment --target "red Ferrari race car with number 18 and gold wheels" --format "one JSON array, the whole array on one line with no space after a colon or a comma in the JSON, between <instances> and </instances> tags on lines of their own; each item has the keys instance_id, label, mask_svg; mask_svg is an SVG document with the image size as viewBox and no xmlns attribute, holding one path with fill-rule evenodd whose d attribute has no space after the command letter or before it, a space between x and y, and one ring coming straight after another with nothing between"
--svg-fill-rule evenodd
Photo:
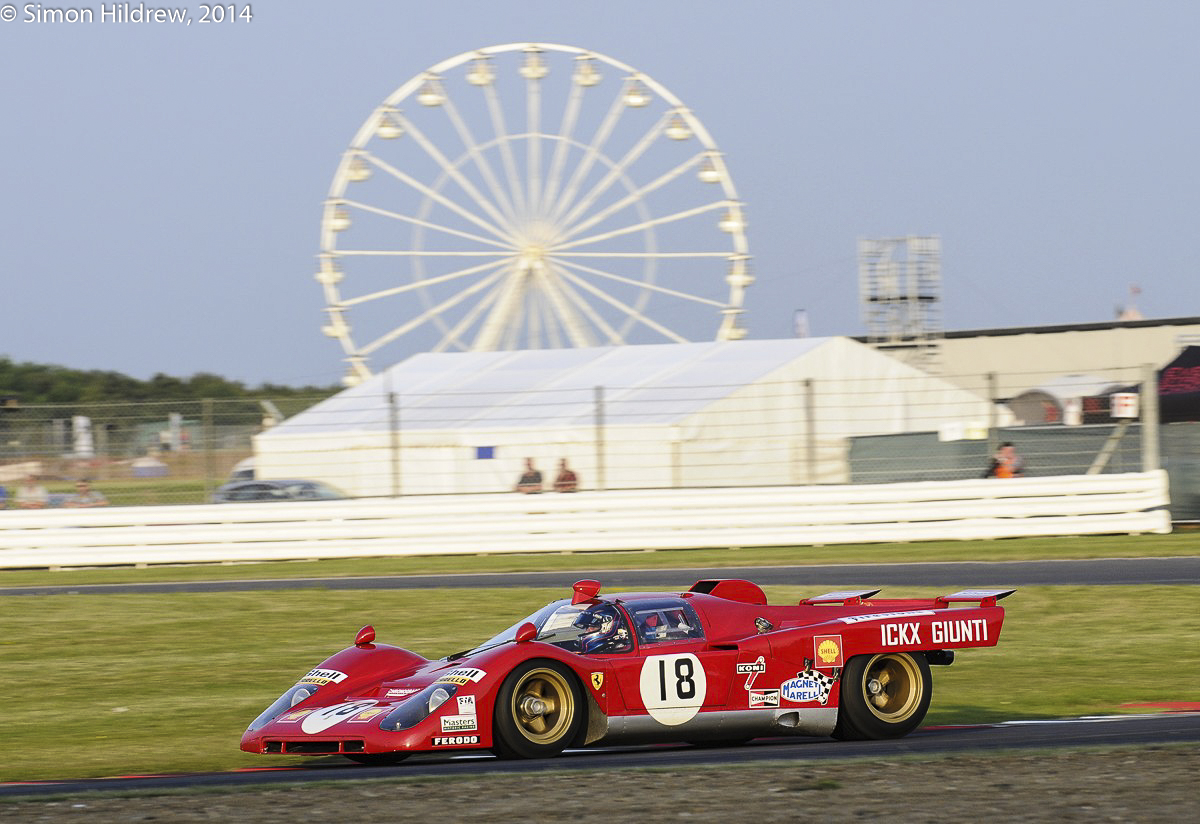
<instances>
[{"instance_id":1,"label":"red Ferrari race car with number 18 and gold wheels","mask_svg":"<svg viewBox=\"0 0 1200 824\"><path fill-rule=\"evenodd\" d=\"M1013 591L857 590L768 606L749 581L619 595L581 581L570 599L438 661L362 627L259 715L241 748L390 764L426 751L541 758L587 745L898 738L929 709L931 664L996 645L996 602Z\"/></svg>"}]
</instances>

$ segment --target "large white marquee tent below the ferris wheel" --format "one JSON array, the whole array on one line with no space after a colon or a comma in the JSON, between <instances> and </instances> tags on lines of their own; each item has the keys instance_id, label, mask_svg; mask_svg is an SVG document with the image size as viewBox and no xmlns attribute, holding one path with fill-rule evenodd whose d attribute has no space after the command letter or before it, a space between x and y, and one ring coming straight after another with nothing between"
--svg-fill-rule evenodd
<instances>
[{"instance_id":1,"label":"large white marquee tent below the ferris wheel","mask_svg":"<svg viewBox=\"0 0 1200 824\"><path fill-rule=\"evenodd\" d=\"M259 477L354 495L836 483L847 438L986 426L989 402L850 338L421 354L256 438Z\"/></svg>"}]
</instances>

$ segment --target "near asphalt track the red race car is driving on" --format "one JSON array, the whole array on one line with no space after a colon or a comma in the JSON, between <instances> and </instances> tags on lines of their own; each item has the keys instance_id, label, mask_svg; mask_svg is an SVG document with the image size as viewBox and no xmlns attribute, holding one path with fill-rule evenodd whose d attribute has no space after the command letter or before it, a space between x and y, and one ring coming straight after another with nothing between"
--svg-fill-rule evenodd
<instances>
[{"instance_id":1,"label":"near asphalt track the red race car is driving on","mask_svg":"<svg viewBox=\"0 0 1200 824\"><path fill-rule=\"evenodd\" d=\"M474 776L545 770L660 769L764 762L812 763L834 759L890 758L965 752L1030 751L1051 747L1105 747L1145 744L1200 744L1200 712L1104 716L1062 721L1021 721L971 727L924 727L889 741L761 739L740 747L696 748L686 745L572 750L544 760L500 760L487 754L414 756L396 766L362 766L342 758L307 765L160 776L120 776L78 781L0 784L0 798L86 792L156 792L196 787L281 787L304 781L359 781L388 777ZM595 775L593 774L594 778Z\"/></svg>"}]
</instances>

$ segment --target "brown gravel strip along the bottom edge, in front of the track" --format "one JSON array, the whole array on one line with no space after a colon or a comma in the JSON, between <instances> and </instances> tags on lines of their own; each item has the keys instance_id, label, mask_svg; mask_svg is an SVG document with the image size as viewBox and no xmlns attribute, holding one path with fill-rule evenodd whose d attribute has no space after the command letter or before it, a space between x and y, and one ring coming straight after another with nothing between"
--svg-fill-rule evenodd
<instances>
[{"instance_id":1,"label":"brown gravel strip along the bottom edge, in front of the track","mask_svg":"<svg viewBox=\"0 0 1200 824\"><path fill-rule=\"evenodd\" d=\"M385 778L280 789L0 802L0 820L131 822L1186 822L1194 747L833 764Z\"/></svg>"}]
</instances>

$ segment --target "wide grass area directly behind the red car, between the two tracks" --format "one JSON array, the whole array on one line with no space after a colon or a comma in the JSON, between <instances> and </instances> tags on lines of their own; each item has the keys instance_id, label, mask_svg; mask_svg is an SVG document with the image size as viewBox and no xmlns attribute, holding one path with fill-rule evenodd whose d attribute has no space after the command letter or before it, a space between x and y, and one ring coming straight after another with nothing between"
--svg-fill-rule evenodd
<instances>
[{"instance_id":1,"label":"wide grass area directly behind the red car, between the two tracks","mask_svg":"<svg viewBox=\"0 0 1200 824\"><path fill-rule=\"evenodd\" d=\"M810 594L768 588L773 602ZM889 596L932 595L896 589ZM0 601L0 780L295 763L241 753L245 726L364 624L427 657L487 637L560 590L25 596ZM929 723L1200 700L1195 587L1028 588L995 649L934 669Z\"/></svg>"}]
</instances>

